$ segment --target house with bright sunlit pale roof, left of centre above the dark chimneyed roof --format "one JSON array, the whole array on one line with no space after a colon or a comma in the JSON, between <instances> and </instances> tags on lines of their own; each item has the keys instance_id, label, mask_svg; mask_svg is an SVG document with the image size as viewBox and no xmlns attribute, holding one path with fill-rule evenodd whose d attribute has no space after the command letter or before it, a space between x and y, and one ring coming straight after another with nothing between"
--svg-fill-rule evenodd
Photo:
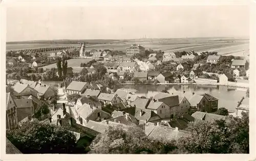
<instances>
[{"instance_id":1,"label":"house with bright sunlit pale roof, left of centre above the dark chimneyed roof","mask_svg":"<svg viewBox=\"0 0 256 161\"><path fill-rule=\"evenodd\" d=\"M109 113L106 113L93 105L84 103L77 110L78 120L81 125L86 126L89 120L102 121L111 118Z\"/></svg>"}]
</instances>

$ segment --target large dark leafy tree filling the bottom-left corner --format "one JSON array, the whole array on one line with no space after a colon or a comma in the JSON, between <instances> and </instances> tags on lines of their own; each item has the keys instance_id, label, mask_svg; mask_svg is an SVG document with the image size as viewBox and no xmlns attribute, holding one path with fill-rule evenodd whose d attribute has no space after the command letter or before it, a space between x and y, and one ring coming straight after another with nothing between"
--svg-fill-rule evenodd
<instances>
[{"instance_id":1,"label":"large dark leafy tree filling the bottom-left corner","mask_svg":"<svg viewBox=\"0 0 256 161\"><path fill-rule=\"evenodd\" d=\"M6 136L24 154L74 153L76 137L61 126L28 121L17 129L6 130Z\"/></svg>"}]
</instances>

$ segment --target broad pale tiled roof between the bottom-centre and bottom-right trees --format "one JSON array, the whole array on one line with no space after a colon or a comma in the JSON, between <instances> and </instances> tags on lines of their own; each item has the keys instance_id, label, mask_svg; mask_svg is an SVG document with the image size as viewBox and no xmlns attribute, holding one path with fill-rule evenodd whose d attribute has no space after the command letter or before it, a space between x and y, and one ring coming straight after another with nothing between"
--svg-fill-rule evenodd
<instances>
[{"instance_id":1,"label":"broad pale tiled roof between the bottom-centre and bottom-right trees","mask_svg":"<svg viewBox=\"0 0 256 161\"><path fill-rule=\"evenodd\" d=\"M189 133L188 131L176 130L175 128L172 128L172 127L157 125L152 130L150 135L148 135L148 138L159 140L159 141L163 141L163 140L172 141L172 140L178 140L180 137L185 136L188 133Z\"/></svg>"}]
</instances>

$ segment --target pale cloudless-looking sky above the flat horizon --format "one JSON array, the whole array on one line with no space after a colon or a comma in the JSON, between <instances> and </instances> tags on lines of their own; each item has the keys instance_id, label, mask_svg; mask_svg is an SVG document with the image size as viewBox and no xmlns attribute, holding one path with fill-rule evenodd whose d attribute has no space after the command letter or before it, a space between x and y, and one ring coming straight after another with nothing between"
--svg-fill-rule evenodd
<instances>
[{"instance_id":1,"label":"pale cloudless-looking sky above the flat horizon","mask_svg":"<svg viewBox=\"0 0 256 161\"><path fill-rule=\"evenodd\" d=\"M248 6L9 6L7 41L249 36Z\"/></svg>"}]
</instances>

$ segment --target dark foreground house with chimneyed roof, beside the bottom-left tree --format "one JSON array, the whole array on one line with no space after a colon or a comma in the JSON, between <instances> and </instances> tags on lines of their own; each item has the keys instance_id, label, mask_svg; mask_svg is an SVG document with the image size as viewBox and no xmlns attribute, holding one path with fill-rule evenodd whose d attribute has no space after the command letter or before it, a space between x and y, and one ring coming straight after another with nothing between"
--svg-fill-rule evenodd
<instances>
[{"instance_id":1,"label":"dark foreground house with chimneyed roof, beside the bottom-left tree","mask_svg":"<svg viewBox=\"0 0 256 161\"><path fill-rule=\"evenodd\" d=\"M76 145L85 150L89 149L92 141L100 134L100 132L92 128L78 124L72 117L59 118L57 125L74 133L76 136Z\"/></svg>"}]
</instances>

